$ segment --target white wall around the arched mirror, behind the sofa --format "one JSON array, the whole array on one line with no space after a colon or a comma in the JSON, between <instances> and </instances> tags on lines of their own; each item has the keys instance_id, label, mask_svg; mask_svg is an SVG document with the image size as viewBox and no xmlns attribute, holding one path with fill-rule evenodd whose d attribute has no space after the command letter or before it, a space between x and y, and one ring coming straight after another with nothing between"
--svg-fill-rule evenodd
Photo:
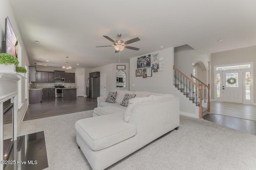
<instances>
[{"instance_id":1,"label":"white wall around the arched mirror, behind the sofa","mask_svg":"<svg viewBox=\"0 0 256 170\"><path fill-rule=\"evenodd\" d=\"M116 65L125 65L123 70L126 73L126 88L116 88ZM92 69L92 72L100 71L100 73L106 73L106 94L110 91L118 90L130 90L129 77L130 77L130 64L129 63L112 63L102 67Z\"/></svg>"}]
</instances>

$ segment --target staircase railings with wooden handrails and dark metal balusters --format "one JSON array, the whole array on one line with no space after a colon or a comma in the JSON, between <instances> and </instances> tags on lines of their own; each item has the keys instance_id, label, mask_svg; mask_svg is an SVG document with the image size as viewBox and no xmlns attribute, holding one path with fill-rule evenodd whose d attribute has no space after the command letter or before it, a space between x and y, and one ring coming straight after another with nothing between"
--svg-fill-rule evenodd
<instances>
[{"instance_id":1,"label":"staircase railings with wooden handrails and dark metal balusters","mask_svg":"<svg viewBox=\"0 0 256 170\"><path fill-rule=\"evenodd\" d=\"M192 79L176 67L174 69L174 88L194 107L198 108L199 118L210 113L210 85L202 83L191 74ZM206 90L207 89L207 90ZM206 99L207 96L207 99Z\"/></svg>"}]
</instances>

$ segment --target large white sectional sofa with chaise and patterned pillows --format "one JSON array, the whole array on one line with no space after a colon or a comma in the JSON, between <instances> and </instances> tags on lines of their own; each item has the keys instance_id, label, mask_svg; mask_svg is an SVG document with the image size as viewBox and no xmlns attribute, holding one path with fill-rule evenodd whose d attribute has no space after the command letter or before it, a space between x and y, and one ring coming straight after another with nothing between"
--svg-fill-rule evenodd
<instances>
[{"instance_id":1,"label":"large white sectional sofa with chaise and patterned pillows","mask_svg":"<svg viewBox=\"0 0 256 170\"><path fill-rule=\"evenodd\" d=\"M180 125L179 98L150 92L118 93L116 103L98 97L94 117L75 124L78 146L94 170L107 168ZM128 107L120 107L118 102L125 93L136 93L136 97Z\"/></svg>"}]
</instances>

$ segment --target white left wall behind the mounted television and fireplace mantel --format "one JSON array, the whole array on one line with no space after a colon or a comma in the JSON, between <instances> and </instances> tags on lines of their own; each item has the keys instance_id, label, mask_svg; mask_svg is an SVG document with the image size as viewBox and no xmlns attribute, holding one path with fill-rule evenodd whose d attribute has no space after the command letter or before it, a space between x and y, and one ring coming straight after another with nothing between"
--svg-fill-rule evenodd
<instances>
[{"instance_id":1,"label":"white left wall behind the mounted television and fireplace mantel","mask_svg":"<svg viewBox=\"0 0 256 170\"><path fill-rule=\"evenodd\" d=\"M16 37L18 37L18 40L19 40L19 43L20 43L20 46L22 47L22 58L21 58L21 62L20 62L20 65L22 67L25 67L25 63L26 65L30 65L29 63L29 60L28 60L28 55L27 55L27 52L26 52L26 49L25 49L25 46L24 46L24 43L22 41L22 37L20 35L20 31L19 31L19 28L17 26L17 23L16 23L16 19L14 18L14 13L12 11L12 7L10 5L10 2L9 0L1 0L0 1L0 6L1 6L1 10L0 10L0 41L2 42L2 40L4 40L4 34L5 34L5 18L6 16L8 16L9 20L10 20L10 23L12 24L12 28L14 30L14 33L16 35ZM2 45L2 43L0 44ZM1 51L2 51L2 47L0 47ZM21 57L21 56L18 56L18 57ZM21 79L21 89L22 89L22 107L20 108L19 112L18 112L18 115L17 115L17 127L22 119L22 117L24 116L25 112L26 112L26 109L27 109L27 104L28 104L28 101L27 99L25 99L25 81L28 81L28 79ZM2 82L1 83L1 90L4 89L4 90L8 90L10 89L11 87L8 86L8 85L2 85Z\"/></svg>"}]
</instances>

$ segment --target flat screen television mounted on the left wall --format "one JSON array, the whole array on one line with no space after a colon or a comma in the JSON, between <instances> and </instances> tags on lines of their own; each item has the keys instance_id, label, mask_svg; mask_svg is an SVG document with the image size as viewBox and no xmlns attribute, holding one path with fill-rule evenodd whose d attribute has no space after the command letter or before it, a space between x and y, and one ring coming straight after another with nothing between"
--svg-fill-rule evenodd
<instances>
[{"instance_id":1,"label":"flat screen television mounted on the left wall","mask_svg":"<svg viewBox=\"0 0 256 170\"><path fill-rule=\"evenodd\" d=\"M5 20L5 37L2 41L2 53L9 53L18 58L18 41L12 29L9 18Z\"/></svg>"}]
</instances>

